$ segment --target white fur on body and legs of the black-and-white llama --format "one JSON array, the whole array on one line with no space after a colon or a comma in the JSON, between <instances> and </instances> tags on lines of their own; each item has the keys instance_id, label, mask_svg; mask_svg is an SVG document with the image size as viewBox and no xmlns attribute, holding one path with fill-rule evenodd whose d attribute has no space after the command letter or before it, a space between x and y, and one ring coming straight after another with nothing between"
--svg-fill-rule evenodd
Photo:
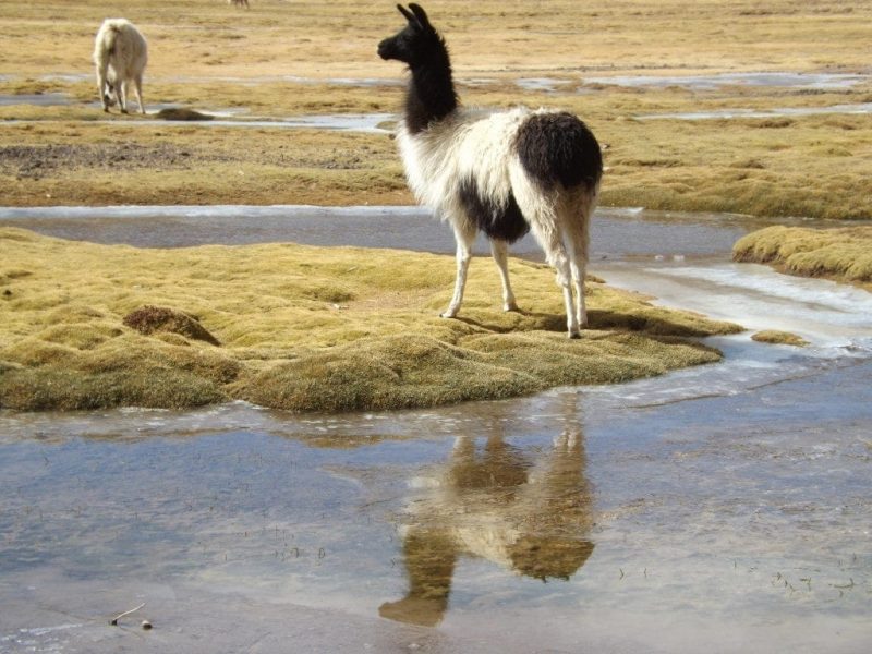
<instances>
[{"instance_id":1,"label":"white fur on body and legs of the black-and-white llama","mask_svg":"<svg viewBox=\"0 0 872 654\"><path fill-rule=\"evenodd\" d=\"M531 111L524 107L495 112L458 108L417 134L412 134L405 121L400 121L397 142L409 185L420 203L451 225L457 239L457 280L444 317L455 317L460 310L471 247L477 233L461 205L459 193L460 183L473 179L482 196L498 206L505 207L510 195L514 195L533 237L557 271L570 337L578 336L579 329L586 325L584 274L589 222L596 205L598 184L593 190L583 184L568 190L559 185L545 190L530 179L513 148L523 122L532 114L550 111ZM514 311L508 245L492 240L491 250L502 280L504 308Z\"/></svg>"}]
</instances>

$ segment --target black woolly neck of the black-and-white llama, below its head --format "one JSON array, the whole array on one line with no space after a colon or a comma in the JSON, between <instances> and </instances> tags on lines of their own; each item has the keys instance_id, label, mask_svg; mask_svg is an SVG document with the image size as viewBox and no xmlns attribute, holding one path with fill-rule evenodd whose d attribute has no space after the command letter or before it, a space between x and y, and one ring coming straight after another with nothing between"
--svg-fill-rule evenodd
<instances>
[{"instance_id":1,"label":"black woolly neck of the black-and-white llama, below its head","mask_svg":"<svg viewBox=\"0 0 872 654\"><path fill-rule=\"evenodd\" d=\"M405 126L412 134L443 120L458 106L451 62L443 48L433 52L424 63L412 66L412 81L405 97Z\"/></svg>"}]
</instances>

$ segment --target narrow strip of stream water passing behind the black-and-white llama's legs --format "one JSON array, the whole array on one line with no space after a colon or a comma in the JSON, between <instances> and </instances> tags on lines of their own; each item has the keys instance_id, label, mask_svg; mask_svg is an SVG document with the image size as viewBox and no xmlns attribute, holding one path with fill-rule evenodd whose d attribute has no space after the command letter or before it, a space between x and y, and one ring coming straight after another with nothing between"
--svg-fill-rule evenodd
<instances>
[{"instance_id":1,"label":"narrow strip of stream water passing behind the black-and-white llama's legs","mask_svg":"<svg viewBox=\"0 0 872 654\"><path fill-rule=\"evenodd\" d=\"M795 221L810 223L809 221ZM140 247L294 241L310 245L453 252L451 230L417 207L301 205L0 207L0 225L51 237ZM591 223L591 258L705 256L729 252L765 219L725 214L601 208ZM489 252L486 241L477 253ZM532 237L512 254L542 258Z\"/></svg>"}]
</instances>

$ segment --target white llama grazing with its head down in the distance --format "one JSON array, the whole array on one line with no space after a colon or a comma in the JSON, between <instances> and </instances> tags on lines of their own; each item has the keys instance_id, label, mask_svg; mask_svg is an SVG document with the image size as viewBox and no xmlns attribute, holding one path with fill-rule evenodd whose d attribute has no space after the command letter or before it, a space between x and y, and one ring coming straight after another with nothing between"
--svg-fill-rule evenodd
<instances>
[{"instance_id":1,"label":"white llama grazing with its head down in the distance","mask_svg":"<svg viewBox=\"0 0 872 654\"><path fill-rule=\"evenodd\" d=\"M128 112L128 90L133 82L140 112L143 106L143 71L148 62L148 46L136 26L125 19L106 19L94 44L94 64L102 110L118 102Z\"/></svg>"}]
</instances>

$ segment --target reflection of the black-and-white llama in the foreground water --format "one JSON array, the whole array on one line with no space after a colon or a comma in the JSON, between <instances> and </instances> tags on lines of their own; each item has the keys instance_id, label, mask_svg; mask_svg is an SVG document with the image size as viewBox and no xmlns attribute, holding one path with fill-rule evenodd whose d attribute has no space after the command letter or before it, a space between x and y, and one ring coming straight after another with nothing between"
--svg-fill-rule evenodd
<instances>
[{"instance_id":1,"label":"reflection of the black-and-white llama in the foreground water","mask_svg":"<svg viewBox=\"0 0 872 654\"><path fill-rule=\"evenodd\" d=\"M449 461L419 481L426 494L410 506L401 530L409 592L383 604L383 617L437 625L461 556L543 581L568 580L584 565L594 547L591 488L571 404L570 426L549 451L531 456L501 433L488 435L483 449L459 436Z\"/></svg>"}]
</instances>

